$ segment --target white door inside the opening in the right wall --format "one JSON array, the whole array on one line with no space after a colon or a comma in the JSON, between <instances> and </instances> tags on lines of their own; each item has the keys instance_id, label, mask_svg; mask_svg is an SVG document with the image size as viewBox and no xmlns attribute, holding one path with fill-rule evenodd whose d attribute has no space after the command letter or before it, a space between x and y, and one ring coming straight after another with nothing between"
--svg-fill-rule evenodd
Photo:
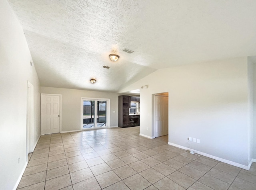
<instances>
[{"instance_id":1,"label":"white door inside the opening in the right wall","mask_svg":"<svg viewBox=\"0 0 256 190\"><path fill-rule=\"evenodd\" d=\"M168 96L155 96L155 137L168 135Z\"/></svg>"}]
</instances>

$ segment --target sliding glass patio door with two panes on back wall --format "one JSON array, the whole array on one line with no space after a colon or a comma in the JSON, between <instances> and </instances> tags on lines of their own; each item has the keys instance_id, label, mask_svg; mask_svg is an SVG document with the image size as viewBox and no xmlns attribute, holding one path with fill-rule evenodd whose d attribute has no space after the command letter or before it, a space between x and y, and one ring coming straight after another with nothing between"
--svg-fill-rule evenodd
<instances>
[{"instance_id":1,"label":"sliding glass patio door with two panes on back wall","mask_svg":"<svg viewBox=\"0 0 256 190\"><path fill-rule=\"evenodd\" d=\"M82 98L81 130L109 127L110 99Z\"/></svg>"}]
</instances>

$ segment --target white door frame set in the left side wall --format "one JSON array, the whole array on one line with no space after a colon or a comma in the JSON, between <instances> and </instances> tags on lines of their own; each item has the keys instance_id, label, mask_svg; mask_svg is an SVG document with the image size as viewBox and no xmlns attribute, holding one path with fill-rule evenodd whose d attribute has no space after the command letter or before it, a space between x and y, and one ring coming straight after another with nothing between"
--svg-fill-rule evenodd
<instances>
[{"instance_id":1,"label":"white door frame set in the left side wall","mask_svg":"<svg viewBox=\"0 0 256 190\"><path fill-rule=\"evenodd\" d=\"M34 151L34 86L27 81L27 155ZM28 159L28 157L27 157Z\"/></svg>"}]
</instances>

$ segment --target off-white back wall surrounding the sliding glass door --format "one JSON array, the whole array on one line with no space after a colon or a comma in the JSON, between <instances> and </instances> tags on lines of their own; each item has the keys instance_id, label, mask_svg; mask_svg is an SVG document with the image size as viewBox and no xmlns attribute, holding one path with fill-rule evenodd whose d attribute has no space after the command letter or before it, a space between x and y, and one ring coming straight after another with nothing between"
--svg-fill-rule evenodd
<instances>
[{"instance_id":1,"label":"off-white back wall surrounding the sliding glass door","mask_svg":"<svg viewBox=\"0 0 256 190\"><path fill-rule=\"evenodd\" d=\"M110 98L110 127L118 126L118 94L67 88L41 87L41 93L62 94L62 131L80 130L81 97ZM116 111L113 113L113 111Z\"/></svg>"}]
</instances>

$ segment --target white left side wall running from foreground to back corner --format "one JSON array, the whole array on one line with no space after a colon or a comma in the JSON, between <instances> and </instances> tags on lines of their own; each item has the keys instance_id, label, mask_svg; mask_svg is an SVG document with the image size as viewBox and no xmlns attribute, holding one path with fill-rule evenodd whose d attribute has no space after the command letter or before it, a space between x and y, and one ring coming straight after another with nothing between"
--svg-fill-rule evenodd
<instances>
[{"instance_id":1,"label":"white left side wall running from foreground to back corner","mask_svg":"<svg viewBox=\"0 0 256 190\"><path fill-rule=\"evenodd\" d=\"M0 18L0 189L10 190L26 166L27 80L34 86L34 145L40 135L40 83L22 27L6 0L0 1Z\"/></svg>"}]
</instances>

